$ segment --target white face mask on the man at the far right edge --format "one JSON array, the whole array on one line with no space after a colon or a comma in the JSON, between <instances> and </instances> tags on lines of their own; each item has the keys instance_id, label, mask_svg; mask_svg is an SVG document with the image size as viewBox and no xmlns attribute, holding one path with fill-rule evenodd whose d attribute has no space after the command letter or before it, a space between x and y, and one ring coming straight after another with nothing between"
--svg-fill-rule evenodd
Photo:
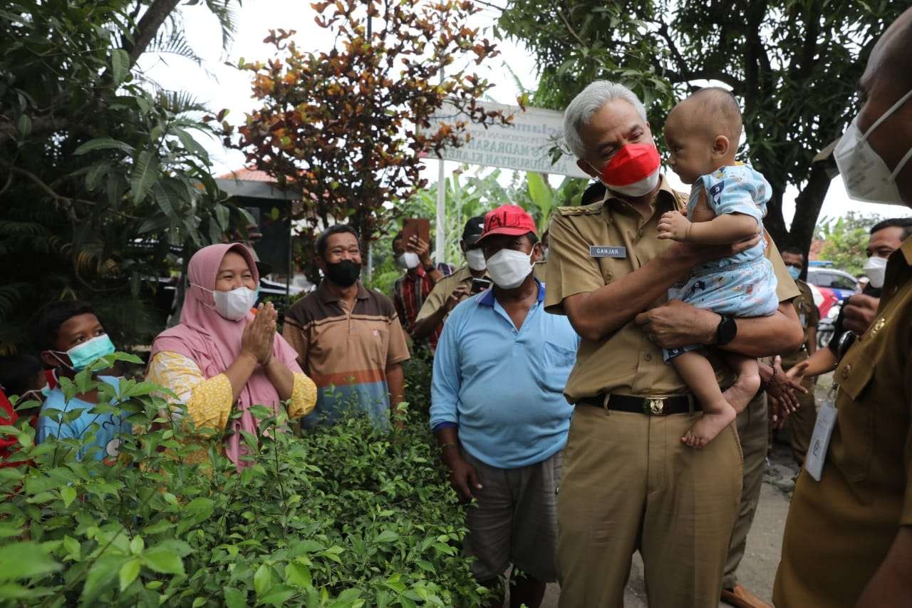
<instances>
[{"instance_id":1,"label":"white face mask on the man at the far right edge","mask_svg":"<svg viewBox=\"0 0 912 608\"><path fill-rule=\"evenodd\" d=\"M910 97L912 97L912 90L896 101L883 116L874 121L864 135L858 129L858 117L855 116L855 120L836 144L833 155L839 172L843 174L845 192L850 198L868 203L903 204L899 188L896 187L896 175L902 171L909 158L912 157L912 148L909 148L906 155L896 164L896 169L891 172L884 159L867 142L867 138L881 122L886 121L890 114L898 110L899 106Z\"/></svg>"}]
</instances>

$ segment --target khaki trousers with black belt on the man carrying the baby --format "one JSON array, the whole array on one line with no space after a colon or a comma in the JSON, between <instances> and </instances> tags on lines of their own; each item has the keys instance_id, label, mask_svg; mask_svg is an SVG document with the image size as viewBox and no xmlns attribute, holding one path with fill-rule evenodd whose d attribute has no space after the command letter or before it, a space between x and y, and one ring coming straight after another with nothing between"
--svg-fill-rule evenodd
<instances>
[{"instance_id":1,"label":"khaki trousers with black belt on the man carrying the baby","mask_svg":"<svg viewBox=\"0 0 912 608\"><path fill-rule=\"evenodd\" d=\"M717 608L741 498L734 425L702 450L681 443L700 414L577 405L557 495L562 608L617 608L639 550L651 608Z\"/></svg>"}]
</instances>

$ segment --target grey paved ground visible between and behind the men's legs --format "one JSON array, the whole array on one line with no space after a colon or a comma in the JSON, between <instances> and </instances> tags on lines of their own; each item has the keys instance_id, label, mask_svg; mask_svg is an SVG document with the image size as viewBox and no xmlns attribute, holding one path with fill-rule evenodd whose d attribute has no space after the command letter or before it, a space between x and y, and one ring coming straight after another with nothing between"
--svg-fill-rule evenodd
<instances>
[{"instance_id":1,"label":"grey paved ground visible between and behind the men's legs","mask_svg":"<svg viewBox=\"0 0 912 608\"><path fill-rule=\"evenodd\" d=\"M817 385L817 406L824 398L825 392L832 383L830 376L821 378ZM797 474L798 466L792 460L792 451L787 446L788 437L785 434L777 437L772 449L768 467L768 475L763 479L763 488L760 497L760 506L753 520L753 526L747 539L747 550L738 578L741 584L747 587L762 600L772 603L772 583L776 577L776 568L782 551L782 529L785 526L785 517L788 514L791 494L782 488L789 487L790 477ZM772 475L771 475L772 473ZM556 608L560 588L548 585L542 608ZM725 606L721 604L720 606ZM630 582L624 594L625 608L646 608L646 587L643 582L643 562L639 554L633 557L630 569Z\"/></svg>"}]
</instances>

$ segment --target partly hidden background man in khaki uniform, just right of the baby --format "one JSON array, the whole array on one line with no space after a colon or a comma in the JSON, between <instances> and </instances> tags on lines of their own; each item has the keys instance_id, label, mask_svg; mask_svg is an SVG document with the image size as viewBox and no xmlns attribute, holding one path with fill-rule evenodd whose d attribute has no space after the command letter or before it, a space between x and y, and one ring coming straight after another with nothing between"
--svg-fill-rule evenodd
<instances>
[{"instance_id":1,"label":"partly hidden background man in khaki uniform, just right of the baby","mask_svg":"<svg viewBox=\"0 0 912 608\"><path fill-rule=\"evenodd\" d=\"M795 284L801 291L801 295L792 301L804 330L804 343L801 349L782 355L782 368L788 372L798 363L807 361L817 350L817 323L820 322L820 310L814 304L811 286L797 278L804 269L804 254L801 249L783 249L782 261L789 268L789 274L795 279ZM817 419L817 406L814 403L814 378L804 378L802 387L807 393L795 393L798 398L798 410L790 414L788 418L792 456L799 465L804 462L807 446L811 444L811 435L814 433L814 421Z\"/></svg>"}]
</instances>

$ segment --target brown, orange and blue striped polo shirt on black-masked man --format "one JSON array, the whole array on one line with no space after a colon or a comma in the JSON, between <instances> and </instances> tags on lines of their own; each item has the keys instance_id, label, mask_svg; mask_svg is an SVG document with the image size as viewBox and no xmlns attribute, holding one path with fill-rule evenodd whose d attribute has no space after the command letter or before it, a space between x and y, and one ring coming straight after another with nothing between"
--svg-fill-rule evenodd
<instances>
[{"instance_id":1,"label":"brown, orange and blue striped polo shirt on black-masked man","mask_svg":"<svg viewBox=\"0 0 912 608\"><path fill-rule=\"evenodd\" d=\"M392 301L358 283L355 309L322 283L285 315L282 335L319 392L308 417L337 417L359 406L375 417L389 411L386 369L409 359L405 333Z\"/></svg>"}]
</instances>

